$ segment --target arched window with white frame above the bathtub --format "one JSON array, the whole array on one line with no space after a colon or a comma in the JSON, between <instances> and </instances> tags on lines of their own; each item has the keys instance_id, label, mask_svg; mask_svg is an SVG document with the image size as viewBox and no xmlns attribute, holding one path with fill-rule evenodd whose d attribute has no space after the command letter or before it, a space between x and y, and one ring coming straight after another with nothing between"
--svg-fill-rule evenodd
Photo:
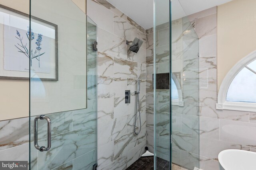
<instances>
[{"instance_id":1,"label":"arched window with white frame above the bathtub","mask_svg":"<svg viewBox=\"0 0 256 170\"><path fill-rule=\"evenodd\" d=\"M256 51L228 72L220 86L216 109L256 111Z\"/></svg>"}]
</instances>

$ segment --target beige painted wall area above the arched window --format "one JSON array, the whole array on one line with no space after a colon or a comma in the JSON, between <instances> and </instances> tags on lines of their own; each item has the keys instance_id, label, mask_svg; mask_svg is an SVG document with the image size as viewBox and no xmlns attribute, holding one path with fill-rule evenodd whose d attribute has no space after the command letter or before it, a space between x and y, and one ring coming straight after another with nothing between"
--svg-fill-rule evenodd
<instances>
[{"instance_id":1,"label":"beige painted wall area above the arched window","mask_svg":"<svg viewBox=\"0 0 256 170\"><path fill-rule=\"evenodd\" d=\"M256 50L256 0L233 0L217 9L219 89L232 66Z\"/></svg>"}]
</instances>

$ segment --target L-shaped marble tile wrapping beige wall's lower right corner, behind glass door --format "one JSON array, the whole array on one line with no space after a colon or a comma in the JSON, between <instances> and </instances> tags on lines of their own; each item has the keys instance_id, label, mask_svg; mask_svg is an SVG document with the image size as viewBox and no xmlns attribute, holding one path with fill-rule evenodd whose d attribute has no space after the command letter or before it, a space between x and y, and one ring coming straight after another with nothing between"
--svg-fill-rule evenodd
<instances>
[{"instance_id":1,"label":"L-shaped marble tile wrapping beige wall's lower right corner, behind glass door","mask_svg":"<svg viewBox=\"0 0 256 170\"><path fill-rule=\"evenodd\" d=\"M88 100L87 108L74 110L73 112L73 130L97 125L97 100Z\"/></svg>"}]
</instances>

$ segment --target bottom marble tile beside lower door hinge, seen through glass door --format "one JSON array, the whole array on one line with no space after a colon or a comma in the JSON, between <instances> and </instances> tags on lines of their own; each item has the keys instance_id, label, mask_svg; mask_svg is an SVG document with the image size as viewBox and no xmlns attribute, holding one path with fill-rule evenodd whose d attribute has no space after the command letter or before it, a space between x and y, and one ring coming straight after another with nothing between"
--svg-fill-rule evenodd
<instances>
[{"instance_id":1,"label":"bottom marble tile beside lower door hinge, seen through glass door","mask_svg":"<svg viewBox=\"0 0 256 170\"><path fill-rule=\"evenodd\" d=\"M85 161L86 160L86 161ZM97 149L73 160L73 170L92 170L97 163Z\"/></svg>"}]
</instances>

